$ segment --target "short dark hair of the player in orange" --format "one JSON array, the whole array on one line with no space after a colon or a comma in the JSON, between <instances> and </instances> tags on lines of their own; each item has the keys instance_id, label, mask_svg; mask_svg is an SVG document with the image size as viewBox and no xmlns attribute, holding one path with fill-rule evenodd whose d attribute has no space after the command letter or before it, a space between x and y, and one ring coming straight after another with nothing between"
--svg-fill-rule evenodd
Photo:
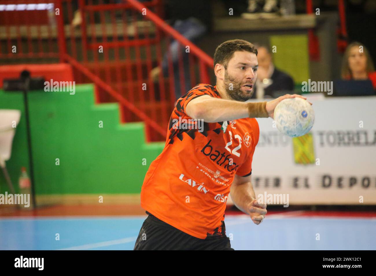
<instances>
[{"instance_id":1,"label":"short dark hair of the player in orange","mask_svg":"<svg viewBox=\"0 0 376 276\"><path fill-rule=\"evenodd\" d=\"M227 40L220 44L214 53L214 67L217 63L224 66L227 69L229 60L232 58L235 51L247 51L254 53L257 56L257 49L251 42L243 39Z\"/></svg>"}]
</instances>

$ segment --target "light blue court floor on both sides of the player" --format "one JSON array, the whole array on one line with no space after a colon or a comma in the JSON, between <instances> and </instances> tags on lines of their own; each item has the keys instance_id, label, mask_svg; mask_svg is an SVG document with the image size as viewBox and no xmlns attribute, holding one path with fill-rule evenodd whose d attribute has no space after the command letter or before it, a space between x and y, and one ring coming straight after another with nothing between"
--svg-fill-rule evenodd
<instances>
[{"instance_id":1,"label":"light blue court floor on both sides of the player","mask_svg":"<svg viewBox=\"0 0 376 276\"><path fill-rule=\"evenodd\" d=\"M132 250L145 218L0 218L0 250ZM376 250L375 218L271 215L255 225L227 215L225 223L235 250Z\"/></svg>"}]
</instances>

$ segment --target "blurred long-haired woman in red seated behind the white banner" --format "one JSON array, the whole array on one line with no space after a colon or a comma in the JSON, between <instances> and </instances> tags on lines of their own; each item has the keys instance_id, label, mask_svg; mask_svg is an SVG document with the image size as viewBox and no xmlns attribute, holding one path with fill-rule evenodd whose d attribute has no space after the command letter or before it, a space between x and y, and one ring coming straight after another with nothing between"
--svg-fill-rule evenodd
<instances>
[{"instance_id":1,"label":"blurred long-haired woman in red seated behind the white banner","mask_svg":"<svg viewBox=\"0 0 376 276\"><path fill-rule=\"evenodd\" d=\"M360 42L353 42L343 56L341 77L344 80L371 80L376 89L376 72L371 56Z\"/></svg>"}]
</instances>

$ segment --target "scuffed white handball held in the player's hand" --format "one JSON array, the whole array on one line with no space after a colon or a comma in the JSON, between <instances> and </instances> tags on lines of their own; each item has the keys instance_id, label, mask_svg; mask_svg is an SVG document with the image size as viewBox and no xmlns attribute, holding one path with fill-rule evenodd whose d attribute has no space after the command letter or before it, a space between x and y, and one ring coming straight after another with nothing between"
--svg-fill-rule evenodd
<instances>
[{"instance_id":1,"label":"scuffed white handball held in the player's hand","mask_svg":"<svg viewBox=\"0 0 376 276\"><path fill-rule=\"evenodd\" d=\"M280 132L290 137L299 137L311 130L315 112L308 101L290 98L277 104L274 109L274 120Z\"/></svg>"}]
</instances>

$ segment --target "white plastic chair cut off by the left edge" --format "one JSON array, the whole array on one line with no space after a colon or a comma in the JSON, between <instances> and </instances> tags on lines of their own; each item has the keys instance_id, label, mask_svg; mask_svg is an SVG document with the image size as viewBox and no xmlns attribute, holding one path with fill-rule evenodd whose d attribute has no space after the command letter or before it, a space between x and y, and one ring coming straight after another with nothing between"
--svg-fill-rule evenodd
<instances>
[{"instance_id":1,"label":"white plastic chair cut off by the left edge","mask_svg":"<svg viewBox=\"0 0 376 276\"><path fill-rule=\"evenodd\" d=\"M0 167L2 167L6 182L11 193L14 194L14 187L6 169L5 161L11 158L12 143L18 122L20 122L21 111L17 109L0 109Z\"/></svg>"}]
</instances>

